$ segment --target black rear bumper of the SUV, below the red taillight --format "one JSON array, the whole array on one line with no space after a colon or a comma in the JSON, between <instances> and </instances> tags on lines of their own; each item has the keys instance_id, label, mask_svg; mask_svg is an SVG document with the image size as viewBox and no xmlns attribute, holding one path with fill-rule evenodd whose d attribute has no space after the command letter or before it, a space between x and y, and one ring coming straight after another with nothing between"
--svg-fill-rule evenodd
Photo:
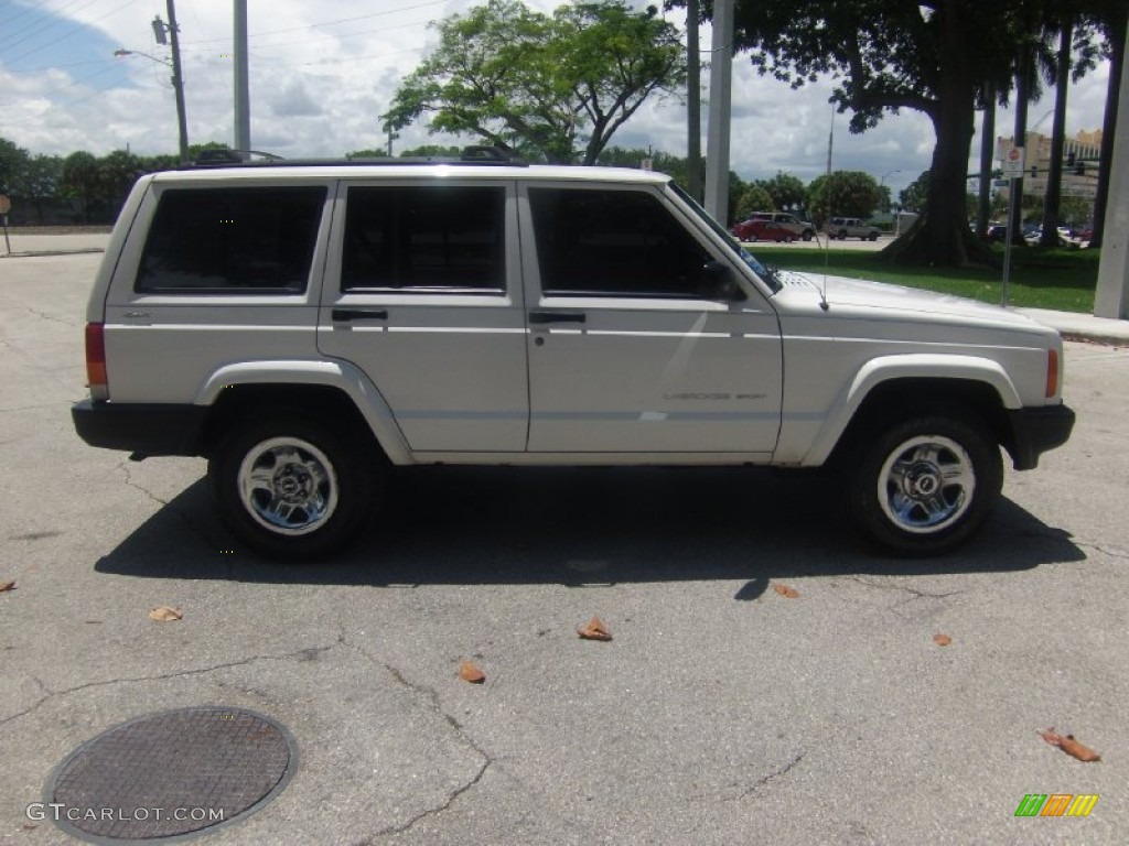
<instances>
[{"instance_id":1,"label":"black rear bumper of the SUV, below the red taillight","mask_svg":"<svg viewBox=\"0 0 1129 846\"><path fill-rule=\"evenodd\" d=\"M71 418L78 437L91 447L143 456L196 456L207 412L200 405L115 405L84 399L71 406Z\"/></svg>"}]
</instances>

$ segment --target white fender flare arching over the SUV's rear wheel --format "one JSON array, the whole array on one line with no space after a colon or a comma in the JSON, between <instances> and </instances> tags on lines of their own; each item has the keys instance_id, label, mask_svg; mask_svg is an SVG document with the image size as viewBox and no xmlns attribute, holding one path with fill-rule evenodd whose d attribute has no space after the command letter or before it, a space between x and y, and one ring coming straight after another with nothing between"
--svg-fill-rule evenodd
<instances>
[{"instance_id":1,"label":"white fender flare arching over the SUV's rear wheel","mask_svg":"<svg viewBox=\"0 0 1129 846\"><path fill-rule=\"evenodd\" d=\"M324 386L343 391L368 423L388 460L412 464L408 440L396 424L392 408L376 385L347 361L247 361L225 364L215 370L196 391L194 405L211 406L225 388L237 385L278 385L281 387Z\"/></svg>"}]
</instances>

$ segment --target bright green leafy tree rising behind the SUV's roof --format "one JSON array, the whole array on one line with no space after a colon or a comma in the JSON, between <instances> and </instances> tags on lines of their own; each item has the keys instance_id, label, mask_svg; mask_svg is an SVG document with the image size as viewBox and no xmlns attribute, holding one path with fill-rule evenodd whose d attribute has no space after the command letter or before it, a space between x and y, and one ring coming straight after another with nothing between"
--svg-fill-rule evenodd
<instances>
[{"instance_id":1,"label":"bright green leafy tree rising behind the SUV's roof","mask_svg":"<svg viewBox=\"0 0 1129 846\"><path fill-rule=\"evenodd\" d=\"M489 0L437 25L439 44L382 115L385 131L430 116L531 160L594 164L651 95L685 77L677 30L620 1L559 7Z\"/></svg>"}]
</instances>

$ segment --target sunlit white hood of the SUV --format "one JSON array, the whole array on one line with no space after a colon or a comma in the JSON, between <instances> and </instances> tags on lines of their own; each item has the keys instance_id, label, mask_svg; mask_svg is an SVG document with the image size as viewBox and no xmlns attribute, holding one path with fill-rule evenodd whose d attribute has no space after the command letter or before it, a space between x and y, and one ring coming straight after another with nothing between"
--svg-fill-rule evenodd
<instances>
[{"instance_id":1,"label":"sunlit white hood of the SUV","mask_svg":"<svg viewBox=\"0 0 1129 846\"><path fill-rule=\"evenodd\" d=\"M947 318L961 323L1003 324L1012 328L1047 331L1047 327L1026 315L948 293L846 276L826 276L824 282L823 275L814 273L780 271L779 276L786 291L811 291L819 297L819 292L825 290L832 311L839 306L856 314L858 310L866 310L876 317L882 312L903 318L919 315L929 319Z\"/></svg>"}]
</instances>

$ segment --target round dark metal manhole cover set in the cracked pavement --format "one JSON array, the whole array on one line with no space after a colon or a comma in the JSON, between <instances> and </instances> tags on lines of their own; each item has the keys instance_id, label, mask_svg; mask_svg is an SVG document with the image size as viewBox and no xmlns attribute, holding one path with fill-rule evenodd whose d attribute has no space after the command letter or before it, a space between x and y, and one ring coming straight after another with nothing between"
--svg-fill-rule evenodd
<instances>
[{"instance_id":1,"label":"round dark metal manhole cover set in the cracked pavement","mask_svg":"<svg viewBox=\"0 0 1129 846\"><path fill-rule=\"evenodd\" d=\"M55 769L46 802L76 837L167 843L257 811L297 764L294 739L273 720L236 708L182 708L80 746Z\"/></svg>"}]
</instances>

